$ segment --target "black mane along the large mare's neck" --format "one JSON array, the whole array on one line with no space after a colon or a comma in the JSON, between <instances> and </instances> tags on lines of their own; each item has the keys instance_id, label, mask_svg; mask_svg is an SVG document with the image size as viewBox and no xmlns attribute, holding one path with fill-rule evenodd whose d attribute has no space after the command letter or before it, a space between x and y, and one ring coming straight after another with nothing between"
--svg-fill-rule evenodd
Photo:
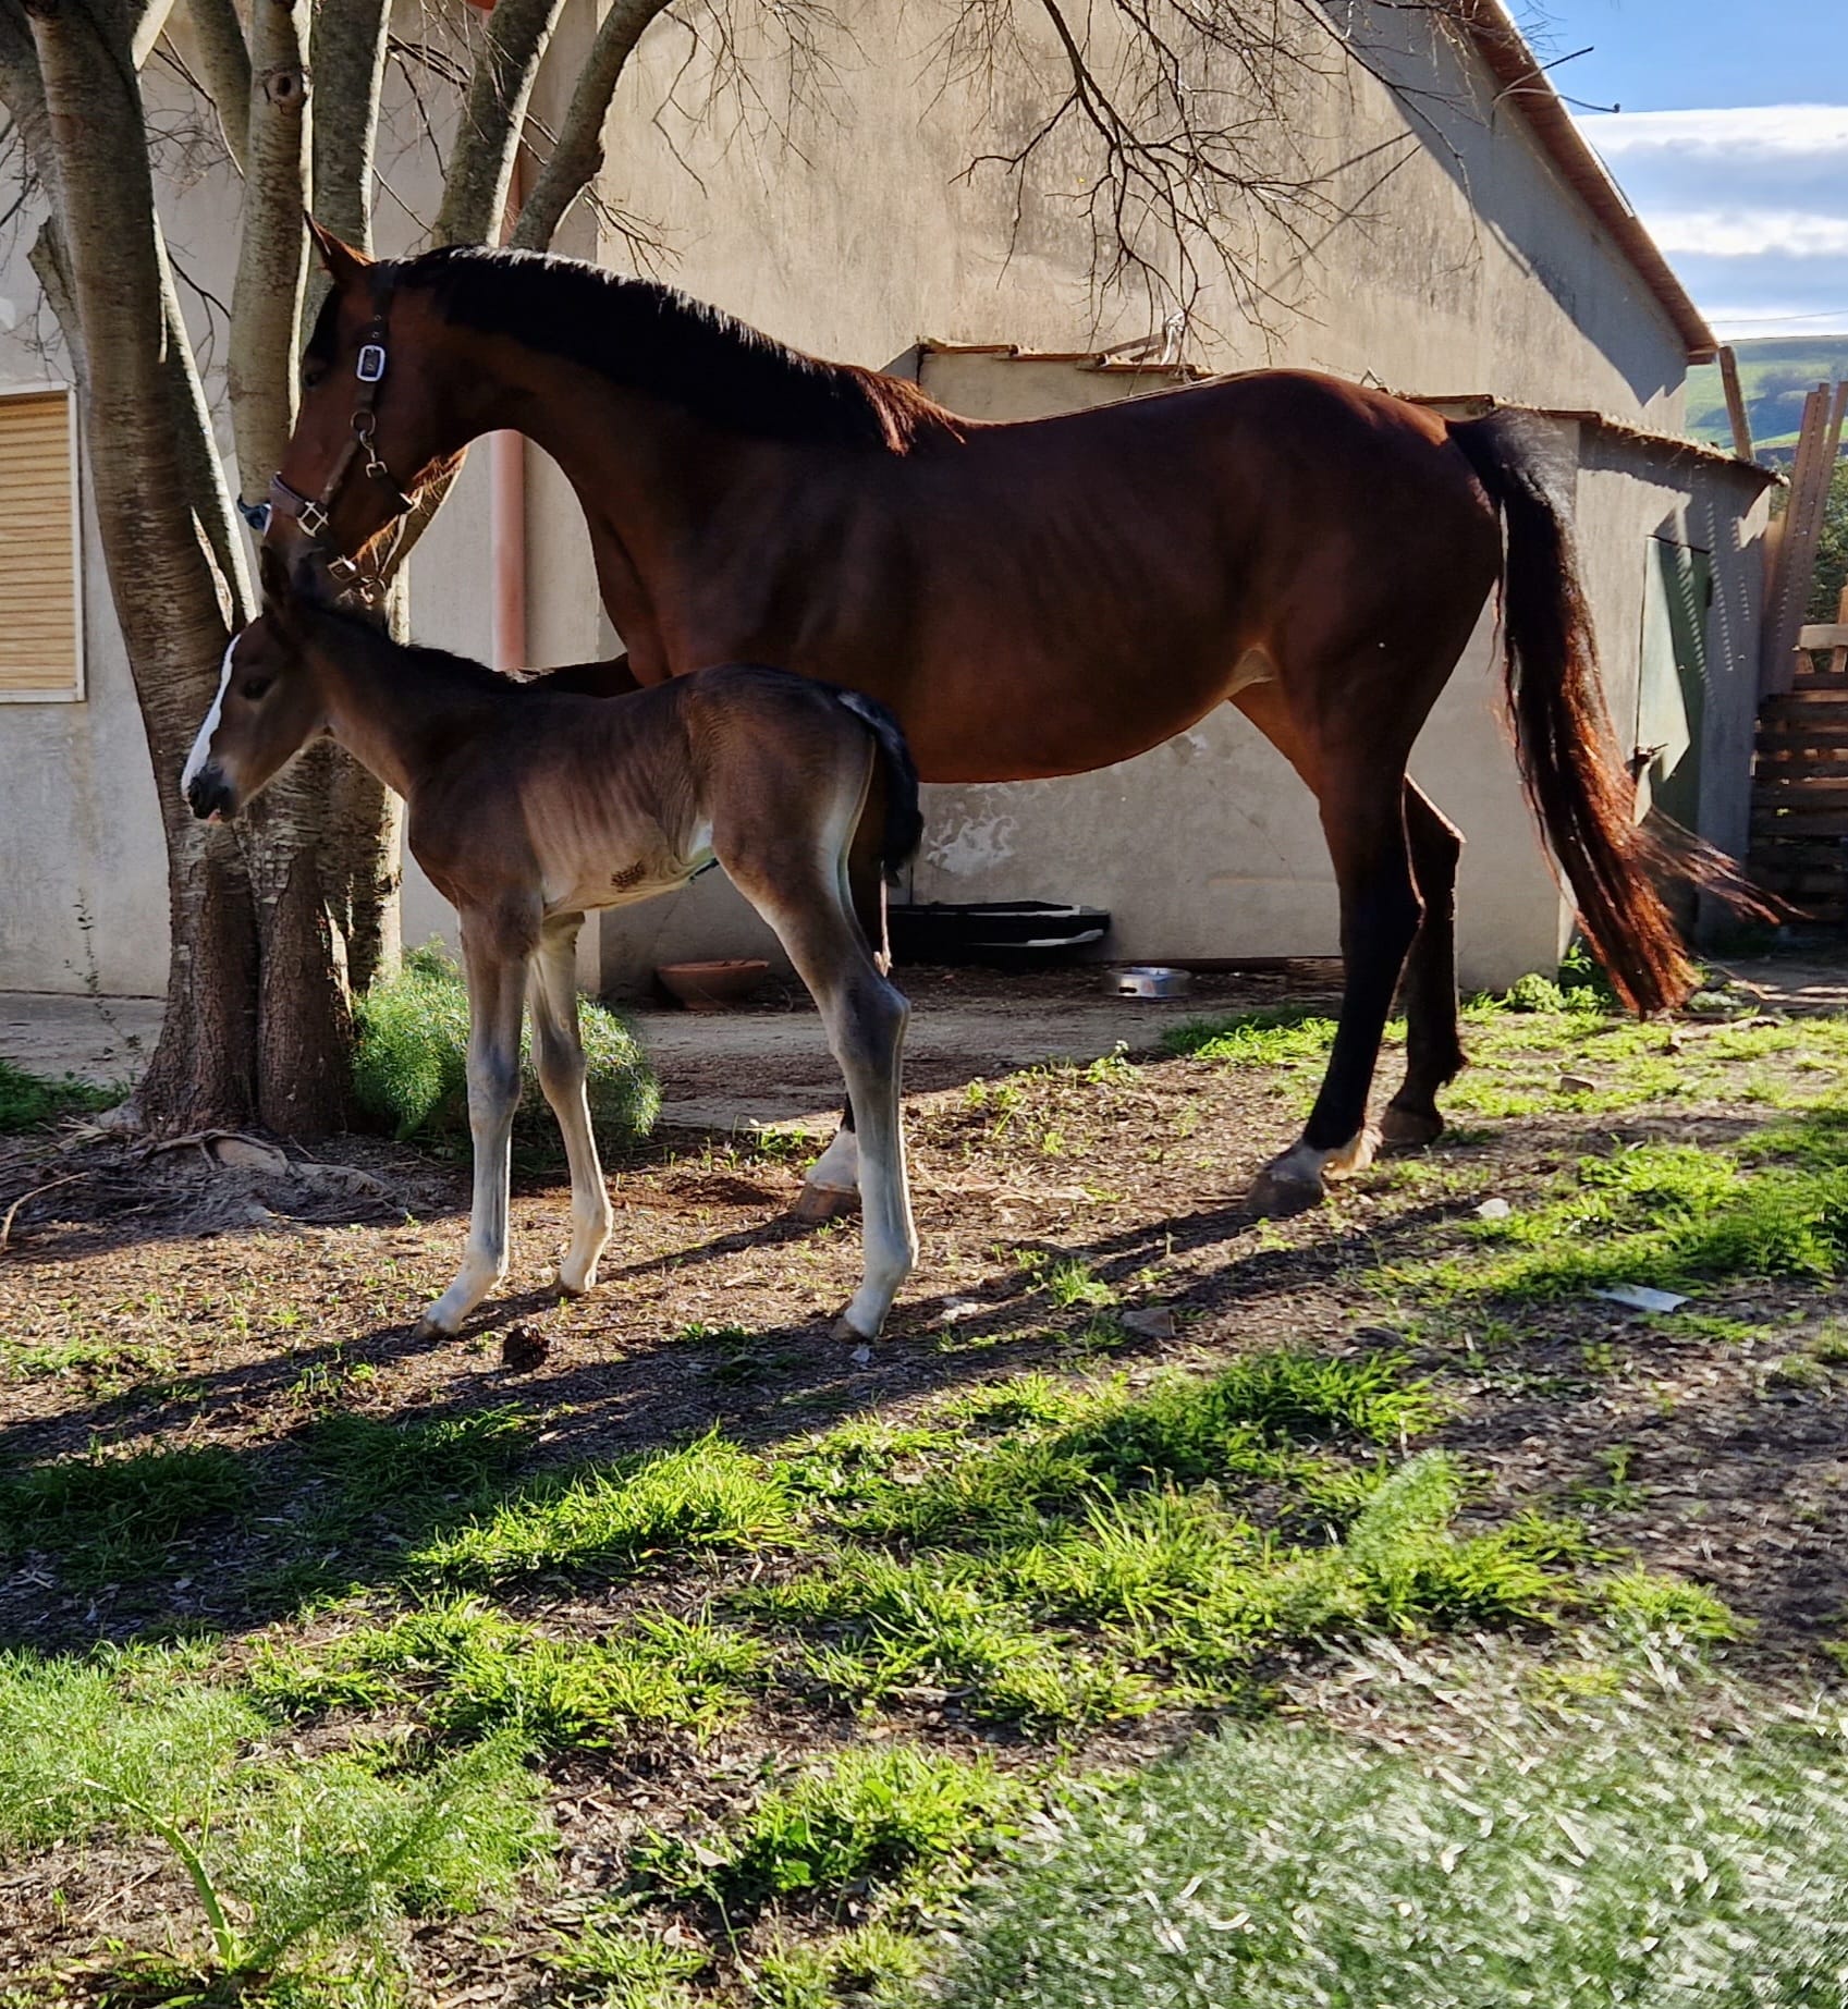
<instances>
[{"instance_id":1,"label":"black mane along the large mare's neck","mask_svg":"<svg viewBox=\"0 0 1848 2009\"><path fill-rule=\"evenodd\" d=\"M446 321L508 336L725 432L906 452L960 432L914 384L803 356L669 285L540 251L444 245L394 267Z\"/></svg>"}]
</instances>

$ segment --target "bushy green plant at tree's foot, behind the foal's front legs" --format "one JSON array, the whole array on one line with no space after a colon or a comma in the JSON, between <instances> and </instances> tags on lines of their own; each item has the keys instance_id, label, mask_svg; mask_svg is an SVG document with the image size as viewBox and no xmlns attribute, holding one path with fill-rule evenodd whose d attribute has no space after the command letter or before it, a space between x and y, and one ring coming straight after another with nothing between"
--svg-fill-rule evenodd
<instances>
[{"instance_id":1,"label":"bushy green plant at tree's foot, behind the foal's front legs","mask_svg":"<svg viewBox=\"0 0 1848 2009\"><path fill-rule=\"evenodd\" d=\"M621 1149L655 1127L661 1089L629 1025L605 1004L581 1000L589 1063L591 1127ZM394 1137L468 1143L468 996L462 976L436 950L412 950L354 1004L354 1099ZM514 1137L528 1157L560 1151L556 1125L532 1069L530 1031L520 1035L520 1113Z\"/></svg>"}]
</instances>

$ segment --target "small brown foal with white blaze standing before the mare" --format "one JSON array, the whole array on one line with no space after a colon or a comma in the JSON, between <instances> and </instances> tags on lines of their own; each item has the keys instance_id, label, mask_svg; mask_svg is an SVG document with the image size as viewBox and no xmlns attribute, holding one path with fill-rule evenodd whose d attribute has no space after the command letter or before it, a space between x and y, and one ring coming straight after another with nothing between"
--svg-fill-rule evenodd
<instances>
[{"instance_id":1,"label":"small brown foal with white blaze standing before the mare","mask_svg":"<svg viewBox=\"0 0 1848 2009\"><path fill-rule=\"evenodd\" d=\"M916 1262L900 1129L906 1000L884 976L884 874L918 842L892 715L852 691L727 665L623 697L601 665L514 683L319 605L265 552L265 611L225 651L181 788L235 816L331 733L406 800L412 854L462 916L474 1205L454 1284L420 1330L456 1332L508 1266L506 1207L528 978L538 1081L570 1163L566 1292L597 1282L611 1205L585 1097L585 914L717 860L775 930L828 1027L860 1123L866 1276L836 1326L874 1338Z\"/></svg>"}]
</instances>

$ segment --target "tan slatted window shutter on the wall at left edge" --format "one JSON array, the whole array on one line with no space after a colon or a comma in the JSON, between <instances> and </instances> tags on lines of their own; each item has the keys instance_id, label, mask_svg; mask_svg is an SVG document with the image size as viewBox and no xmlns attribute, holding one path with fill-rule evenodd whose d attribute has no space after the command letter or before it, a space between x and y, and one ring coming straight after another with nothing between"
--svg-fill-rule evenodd
<instances>
[{"instance_id":1,"label":"tan slatted window shutter on the wall at left edge","mask_svg":"<svg viewBox=\"0 0 1848 2009\"><path fill-rule=\"evenodd\" d=\"M0 701L82 697L68 390L0 392Z\"/></svg>"}]
</instances>

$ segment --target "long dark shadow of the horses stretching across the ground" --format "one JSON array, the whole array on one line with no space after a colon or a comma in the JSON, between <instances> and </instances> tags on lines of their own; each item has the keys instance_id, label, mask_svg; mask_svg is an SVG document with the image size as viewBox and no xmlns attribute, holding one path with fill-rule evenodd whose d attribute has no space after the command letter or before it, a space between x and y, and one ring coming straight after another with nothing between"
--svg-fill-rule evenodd
<instances>
[{"instance_id":1,"label":"long dark shadow of the horses stretching across the ground","mask_svg":"<svg viewBox=\"0 0 1848 2009\"><path fill-rule=\"evenodd\" d=\"M1444 1211L1404 1213L1386 1240L1352 1227L1308 1248L1229 1254L1169 1302L1183 1316L1209 1316L1284 1298L1380 1262ZM1067 1242L1061 1254L1121 1286L1159 1254L1215 1248L1251 1225L1253 1215L1229 1203ZM767 1230L717 1244L795 1232L783 1223ZM494 1360L498 1340L554 1302L550 1292L524 1292L498 1300L462 1342L382 1326L345 1344L209 1370L193 1376L185 1400L135 1414L119 1400L100 1400L64 1418L60 1434L76 1432L80 1442L84 1432L108 1428L117 1457L26 1467L0 1485L0 1541L14 1549L16 1565L0 1587L0 1645L76 1651L106 1639L239 1635L350 1591L416 1593L420 1579L408 1557L488 1507L554 1491L572 1471L621 1469L621 1461L707 1430L767 1453L858 1412L1071 1358L1071 1332L1049 1330L1055 1316L1030 1284L1026 1268L996 1266L970 1290L982 1310L946 1328L934 1304L904 1306L888 1336L866 1350L830 1338L830 1320L803 1320L749 1332L689 1328L611 1358L512 1372ZM1328 1338L1304 1334L1306 1342ZM1348 1326L1340 1340L1348 1340ZM378 1374L442 1348L472 1350L468 1358L480 1364L438 1398L390 1412L341 1400L356 1364ZM1145 1338L1097 1320L1085 1358L1135 1370L1185 1352L1185 1338ZM323 1384L333 1400L321 1398ZM235 1444L201 1438L187 1448L185 1434L197 1434L201 1412L287 1408L291 1392L301 1404L293 1426ZM177 1450L173 1438L181 1438ZM137 1448L121 1457L121 1446ZM18 1428L0 1432L0 1463L16 1461L22 1448ZM175 1467L175 1459L191 1463ZM46 1501L36 1527L22 1525L36 1479L72 1465L84 1471L86 1491ZM205 1511L191 1511L187 1487ZM167 1493L175 1499L163 1509ZM143 1511L149 1501L153 1513ZM165 1525L161 1511L169 1513ZM90 1539L76 1541L86 1531ZM585 1575L611 1585L607 1573L579 1573L581 1581Z\"/></svg>"}]
</instances>

